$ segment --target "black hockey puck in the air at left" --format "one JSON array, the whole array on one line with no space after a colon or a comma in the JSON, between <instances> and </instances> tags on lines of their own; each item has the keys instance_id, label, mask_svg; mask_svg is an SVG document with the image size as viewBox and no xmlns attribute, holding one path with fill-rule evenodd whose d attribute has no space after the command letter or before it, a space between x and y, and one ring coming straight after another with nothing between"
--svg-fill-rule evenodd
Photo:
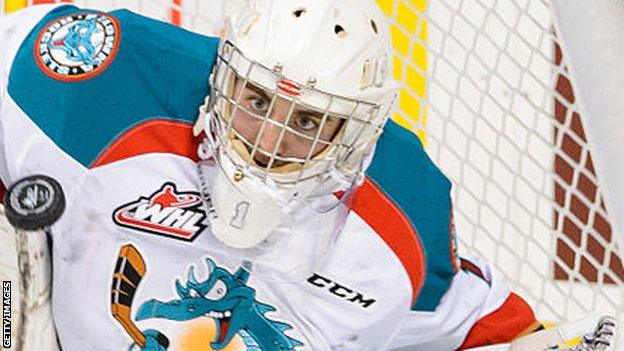
<instances>
[{"instance_id":1,"label":"black hockey puck in the air at left","mask_svg":"<svg viewBox=\"0 0 624 351\"><path fill-rule=\"evenodd\" d=\"M45 175L13 183L4 195L6 217L17 229L40 230L54 224L65 210L61 185Z\"/></svg>"}]
</instances>

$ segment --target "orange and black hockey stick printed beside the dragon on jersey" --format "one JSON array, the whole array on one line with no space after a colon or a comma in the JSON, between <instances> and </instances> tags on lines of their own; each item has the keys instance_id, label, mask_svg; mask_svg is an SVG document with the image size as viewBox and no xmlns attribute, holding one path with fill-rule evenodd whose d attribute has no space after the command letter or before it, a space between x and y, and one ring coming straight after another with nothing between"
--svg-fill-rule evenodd
<instances>
[{"instance_id":1,"label":"orange and black hockey stick printed beside the dragon on jersey","mask_svg":"<svg viewBox=\"0 0 624 351\"><path fill-rule=\"evenodd\" d=\"M126 333L139 346L145 347L146 338L131 317L132 300L145 275L145 261L132 245L119 250L113 283L111 285L111 312Z\"/></svg>"}]
</instances>

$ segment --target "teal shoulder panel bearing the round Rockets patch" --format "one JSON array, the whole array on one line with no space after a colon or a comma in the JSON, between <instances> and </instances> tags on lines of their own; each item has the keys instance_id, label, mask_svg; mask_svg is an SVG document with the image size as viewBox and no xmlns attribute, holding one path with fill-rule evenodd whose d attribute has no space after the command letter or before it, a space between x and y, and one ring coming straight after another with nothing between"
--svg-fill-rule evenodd
<instances>
[{"instance_id":1,"label":"teal shoulder panel bearing the round Rockets patch","mask_svg":"<svg viewBox=\"0 0 624 351\"><path fill-rule=\"evenodd\" d=\"M8 82L26 115L85 167L141 123L193 123L219 45L127 10L87 14L98 12L62 6L47 14L22 43Z\"/></svg>"}]
</instances>

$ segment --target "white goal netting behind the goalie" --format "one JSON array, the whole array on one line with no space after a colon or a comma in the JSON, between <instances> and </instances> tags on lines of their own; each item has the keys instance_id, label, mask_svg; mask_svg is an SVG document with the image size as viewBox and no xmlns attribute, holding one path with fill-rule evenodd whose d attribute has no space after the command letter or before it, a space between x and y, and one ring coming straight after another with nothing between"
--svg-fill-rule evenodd
<instances>
[{"instance_id":1,"label":"white goal netting behind the goalie","mask_svg":"<svg viewBox=\"0 0 624 351\"><path fill-rule=\"evenodd\" d=\"M126 7L208 34L240 4L74 2ZM452 180L460 251L491 261L540 320L600 313L624 321L622 233L605 190L613 176L600 161L609 149L596 147L595 110L581 103L589 101L584 91L600 86L575 76L582 67L567 56L574 38L561 31L562 1L377 2L390 20L402 84L394 119Z\"/></svg>"}]
</instances>

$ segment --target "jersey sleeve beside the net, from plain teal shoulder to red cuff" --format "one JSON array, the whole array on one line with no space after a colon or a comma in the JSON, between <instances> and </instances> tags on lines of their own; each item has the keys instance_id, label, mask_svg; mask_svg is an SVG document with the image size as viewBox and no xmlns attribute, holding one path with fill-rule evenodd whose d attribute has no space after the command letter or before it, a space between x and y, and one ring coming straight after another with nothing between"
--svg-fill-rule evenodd
<instances>
[{"instance_id":1,"label":"jersey sleeve beside the net, from plain teal shoulder to red cuff","mask_svg":"<svg viewBox=\"0 0 624 351\"><path fill-rule=\"evenodd\" d=\"M389 121L367 176L413 228L402 235L413 235L419 242L422 255L415 255L415 250L406 254L405 245L395 250L406 271L410 273L410 264L424 256L424 276L415 271L420 275L412 279L423 284L411 310L404 312L389 350L491 345L539 326L529 305L509 291L485 260L458 256L451 182L413 133Z\"/></svg>"}]
</instances>

